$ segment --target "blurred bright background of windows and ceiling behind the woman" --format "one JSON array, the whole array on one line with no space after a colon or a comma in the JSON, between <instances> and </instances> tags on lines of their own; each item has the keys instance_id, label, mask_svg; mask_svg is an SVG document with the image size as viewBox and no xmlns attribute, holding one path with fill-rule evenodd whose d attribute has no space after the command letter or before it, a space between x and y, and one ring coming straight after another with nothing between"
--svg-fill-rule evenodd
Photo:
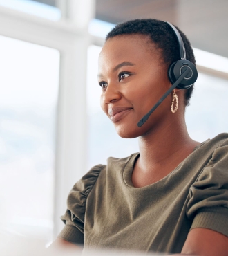
<instances>
[{"instance_id":1,"label":"blurred bright background of windows and ceiling behind the woman","mask_svg":"<svg viewBox=\"0 0 228 256\"><path fill-rule=\"evenodd\" d=\"M0 232L53 240L73 184L137 152L99 107L97 57L115 24L155 18L189 37L199 76L187 127L228 129L227 0L0 0Z\"/></svg>"}]
</instances>

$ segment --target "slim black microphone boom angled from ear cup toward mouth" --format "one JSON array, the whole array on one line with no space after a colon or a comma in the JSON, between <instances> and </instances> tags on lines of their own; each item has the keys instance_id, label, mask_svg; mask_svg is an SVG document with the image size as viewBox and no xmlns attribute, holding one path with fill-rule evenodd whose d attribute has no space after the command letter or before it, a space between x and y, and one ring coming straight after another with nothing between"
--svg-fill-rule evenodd
<instances>
[{"instance_id":1,"label":"slim black microphone boom angled from ear cup toward mouth","mask_svg":"<svg viewBox=\"0 0 228 256\"><path fill-rule=\"evenodd\" d=\"M151 113L153 113L153 111L155 111L155 109L157 109L157 107L162 103L162 101L165 98L167 98L169 93L171 93L171 91L173 91L173 89L175 89L175 87L178 86L178 84L180 84L180 82L182 82L182 80L184 80L185 77L187 77L189 72L192 72L192 71L191 71L191 68L188 67L188 68L186 68L184 73L182 73L182 75L180 75L180 77L178 77L178 80L175 81L175 83L169 88L169 90L166 93L164 93L162 98L160 98L160 100L158 100L158 102L153 106L153 108L148 113L146 113L146 115L137 123L137 127L141 127L142 125L144 125L144 123L149 118L149 116L151 116Z\"/></svg>"}]
</instances>

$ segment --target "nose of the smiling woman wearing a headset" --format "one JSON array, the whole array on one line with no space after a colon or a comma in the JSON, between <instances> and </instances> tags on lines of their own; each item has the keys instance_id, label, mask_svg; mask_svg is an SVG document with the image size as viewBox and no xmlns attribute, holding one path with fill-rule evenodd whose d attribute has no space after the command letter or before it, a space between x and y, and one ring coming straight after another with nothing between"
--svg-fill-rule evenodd
<instances>
[{"instance_id":1,"label":"nose of the smiling woman wearing a headset","mask_svg":"<svg viewBox=\"0 0 228 256\"><path fill-rule=\"evenodd\" d=\"M104 104L113 103L122 98L117 84L109 83L106 90L102 93L101 100Z\"/></svg>"}]
</instances>

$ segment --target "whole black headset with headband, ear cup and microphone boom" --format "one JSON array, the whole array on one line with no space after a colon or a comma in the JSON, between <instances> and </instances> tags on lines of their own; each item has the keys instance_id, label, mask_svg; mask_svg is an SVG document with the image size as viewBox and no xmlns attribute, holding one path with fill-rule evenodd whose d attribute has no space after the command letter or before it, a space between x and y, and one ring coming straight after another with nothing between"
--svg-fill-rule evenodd
<instances>
[{"instance_id":1,"label":"whole black headset with headband, ear cup and microphone boom","mask_svg":"<svg viewBox=\"0 0 228 256\"><path fill-rule=\"evenodd\" d=\"M146 115L137 123L137 127L141 127L142 125L144 125L149 116L151 116L151 113L153 113L153 111L157 109L157 107L162 103L165 98L167 98L167 96L169 95L169 93L171 93L171 91L173 91L173 89L189 89L191 86L193 86L194 82L196 82L198 77L196 66L192 62L189 62L189 60L186 60L184 42L180 33L171 23L166 21L166 24L168 24L169 28L173 30L173 33L178 40L178 45L180 48L180 60L178 60L177 62L173 62L168 69L168 77L170 82L172 83L172 86L166 93L164 93L162 98L158 100L153 108L148 113L146 113Z\"/></svg>"}]
</instances>

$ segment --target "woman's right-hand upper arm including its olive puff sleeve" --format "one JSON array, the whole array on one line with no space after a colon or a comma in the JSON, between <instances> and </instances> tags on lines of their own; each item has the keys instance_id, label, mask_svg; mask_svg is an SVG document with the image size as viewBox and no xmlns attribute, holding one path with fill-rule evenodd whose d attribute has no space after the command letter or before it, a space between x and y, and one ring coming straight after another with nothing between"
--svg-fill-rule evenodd
<instances>
[{"instance_id":1,"label":"woman's right-hand upper arm including its olive puff sleeve","mask_svg":"<svg viewBox=\"0 0 228 256\"><path fill-rule=\"evenodd\" d=\"M193 220L182 253L228 256L228 145L216 148L190 188L187 217Z\"/></svg>"}]
</instances>

